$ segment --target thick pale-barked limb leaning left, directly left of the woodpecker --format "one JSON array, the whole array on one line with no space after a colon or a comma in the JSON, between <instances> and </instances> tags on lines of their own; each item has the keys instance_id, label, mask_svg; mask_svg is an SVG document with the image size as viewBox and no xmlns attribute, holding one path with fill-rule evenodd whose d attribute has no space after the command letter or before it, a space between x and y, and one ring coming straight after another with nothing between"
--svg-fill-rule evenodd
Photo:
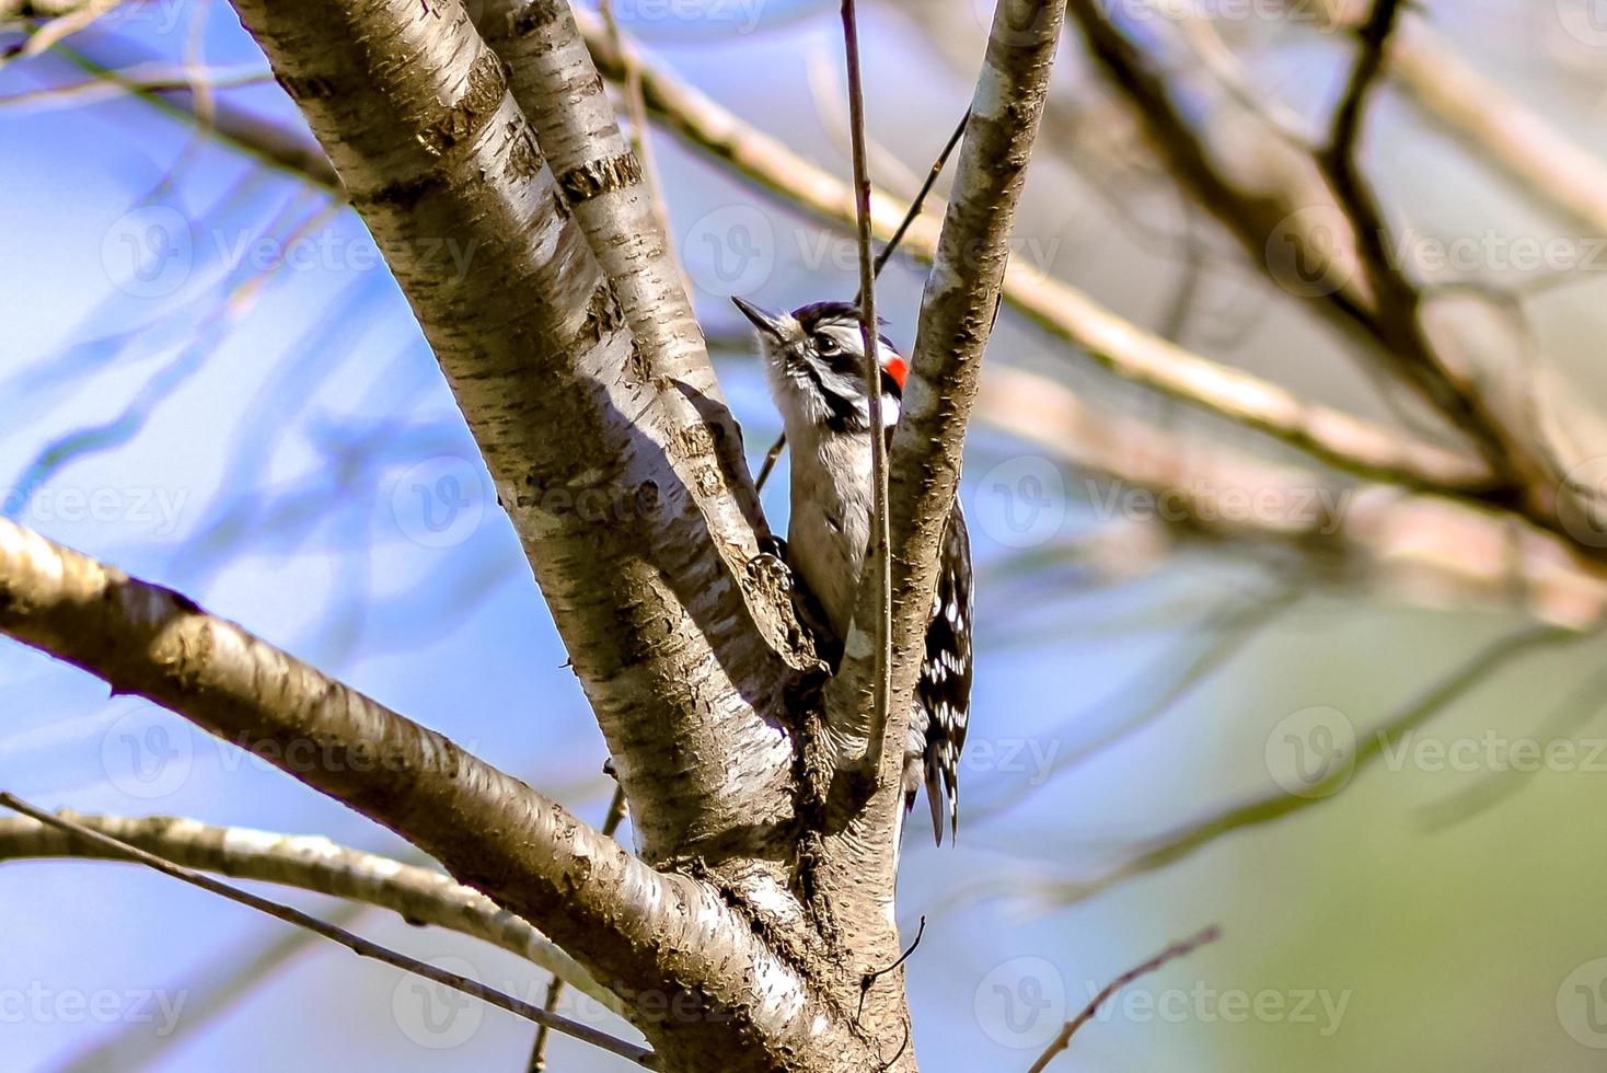
<instances>
[{"instance_id":1,"label":"thick pale-barked limb leaning left, directly left of the woodpecker","mask_svg":"<svg viewBox=\"0 0 1607 1073\"><path fill-rule=\"evenodd\" d=\"M779 840L792 813L779 715L808 659L784 596L746 569L762 522L744 512L752 490L730 464L736 434L707 357L693 342L652 366L638 349L651 337L633 337L572 215L587 199L554 182L503 58L461 8L236 6L452 384L617 761L643 851L718 863ZM566 177L588 167L583 146L553 153ZM615 222L603 206L640 191L615 193L585 209L601 228ZM435 255L442 241L460 244L461 270ZM664 281L651 251L638 252L630 265L646 294Z\"/></svg>"}]
</instances>

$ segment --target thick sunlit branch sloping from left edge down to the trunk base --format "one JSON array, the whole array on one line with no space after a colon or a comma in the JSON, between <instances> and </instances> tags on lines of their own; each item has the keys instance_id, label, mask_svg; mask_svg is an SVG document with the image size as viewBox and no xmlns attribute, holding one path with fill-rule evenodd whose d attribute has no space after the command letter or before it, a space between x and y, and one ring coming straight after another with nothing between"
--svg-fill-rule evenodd
<instances>
[{"instance_id":1,"label":"thick sunlit branch sloping from left edge down to the trunk base","mask_svg":"<svg viewBox=\"0 0 1607 1073\"><path fill-rule=\"evenodd\" d=\"M624 1001L669 1068L705 1034L662 1018L693 996L728 1018L730 1068L771 1068L848 1030L714 887L662 874L517 779L191 601L0 519L0 633L146 697L391 827L542 927ZM641 994L662 996L643 1004ZM686 1031L677 1031L683 1028Z\"/></svg>"}]
</instances>

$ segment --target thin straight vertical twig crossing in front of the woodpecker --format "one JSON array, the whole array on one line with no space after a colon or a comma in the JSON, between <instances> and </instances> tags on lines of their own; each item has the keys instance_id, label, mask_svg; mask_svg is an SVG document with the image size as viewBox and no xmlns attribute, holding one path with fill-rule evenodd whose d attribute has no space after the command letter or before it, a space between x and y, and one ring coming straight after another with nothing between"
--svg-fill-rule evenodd
<instances>
[{"instance_id":1,"label":"thin straight vertical twig crossing in front of the woodpecker","mask_svg":"<svg viewBox=\"0 0 1607 1073\"><path fill-rule=\"evenodd\" d=\"M876 268L871 259L871 178L865 164L865 87L860 80L860 29L853 0L842 0L842 40L848 61L848 130L853 135L853 207L860 239L860 337L865 341L865 397L871 421L871 554L861 577L876 585L876 623L871 644L871 732L865 769L882 766L882 739L892 707L893 573L887 538L887 435L882 430L882 366L876 329ZM852 631L850 631L852 634Z\"/></svg>"}]
</instances>

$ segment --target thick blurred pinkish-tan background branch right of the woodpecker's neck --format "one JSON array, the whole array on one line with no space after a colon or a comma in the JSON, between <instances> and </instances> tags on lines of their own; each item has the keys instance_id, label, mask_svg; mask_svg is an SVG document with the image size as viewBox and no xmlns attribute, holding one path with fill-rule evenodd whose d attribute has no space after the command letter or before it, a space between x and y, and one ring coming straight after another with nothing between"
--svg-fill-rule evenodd
<instances>
[{"instance_id":1,"label":"thick blurred pinkish-tan background branch right of the woodpecker's neck","mask_svg":"<svg viewBox=\"0 0 1607 1073\"><path fill-rule=\"evenodd\" d=\"M977 418L1051 458L1146 492L1162 541L1282 545L1319 583L1429 607L1515 610L1586 630L1607 617L1607 569L1556 535L1456 498L1351 485L1311 467L1098 410L1046 376L993 365ZM1234 498L1255 509L1234 509Z\"/></svg>"}]
</instances>

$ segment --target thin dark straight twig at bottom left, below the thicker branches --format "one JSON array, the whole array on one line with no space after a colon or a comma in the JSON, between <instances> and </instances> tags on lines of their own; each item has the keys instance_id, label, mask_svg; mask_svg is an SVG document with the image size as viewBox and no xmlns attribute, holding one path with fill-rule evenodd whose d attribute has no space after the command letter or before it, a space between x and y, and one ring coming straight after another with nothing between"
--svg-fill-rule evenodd
<instances>
[{"instance_id":1,"label":"thin dark straight twig at bottom left, below the thicker branches","mask_svg":"<svg viewBox=\"0 0 1607 1073\"><path fill-rule=\"evenodd\" d=\"M276 901L270 901L247 890L239 890L236 887L230 887L228 883L222 883L212 879L211 875L202 875L201 872L193 872L186 867L180 867L178 864L159 858L154 853L146 853L145 850L132 847L127 842L119 842L111 835L104 835L95 830L93 827L85 827L84 824L74 822L63 816L56 816L53 813L47 813L42 808L35 808L10 792L0 792L0 806L22 813L24 816L37 819L42 824L56 827L58 830L66 830L79 838L90 842L92 845L98 845L104 850L114 850L117 851L117 855L125 856L130 861L138 861L140 864L146 864L156 869L157 872L162 872L164 875L172 875L174 879L183 880L193 887L199 887L201 890L219 895L220 898L227 898L228 901L238 901L243 906L251 906L252 909L265 912L267 916L275 917L278 920L284 920L286 924L294 924L296 927L307 928L309 932L321 935L323 938L331 940L333 943L339 943L341 946L347 948L358 957L373 957L374 961L384 962L403 972L424 977L426 980L452 988L453 991L461 991L463 994L480 999L482 1002L490 1002L492 1006L501 1007L509 1014L517 1014L519 1017L532 1020L537 1025L551 1025L554 1031L561 1031L566 1036L574 1036L575 1039L590 1042L596 1047L601 1047L603 1051L607 1051L609 1054L617 1054L622 1059L635 1062L636 1065L644 1065L651 1068L654 1054L646 1047L638 1047L632 1042L625 1042L624 1039L615 1039L607 1033L601 1033L588 1025L572 1022L567 1017L548 1014L538 1006L534 1006L522 999L516 999L511 994L503 994L501 991L497 991L493 988L487 988L477 980L469 980L468 977L461 977L455 972L447 972L445 969L437 969L435 965L418 961L416 957L408 957L407 954L397 953L387 946L373 943L363 938L362 935L354 935L346 928L339 928L334 927L333 924L320 920L318 917L302 912L301 909L292 909L291 906L281 906Z\"/></svg>"}]
</instances>

